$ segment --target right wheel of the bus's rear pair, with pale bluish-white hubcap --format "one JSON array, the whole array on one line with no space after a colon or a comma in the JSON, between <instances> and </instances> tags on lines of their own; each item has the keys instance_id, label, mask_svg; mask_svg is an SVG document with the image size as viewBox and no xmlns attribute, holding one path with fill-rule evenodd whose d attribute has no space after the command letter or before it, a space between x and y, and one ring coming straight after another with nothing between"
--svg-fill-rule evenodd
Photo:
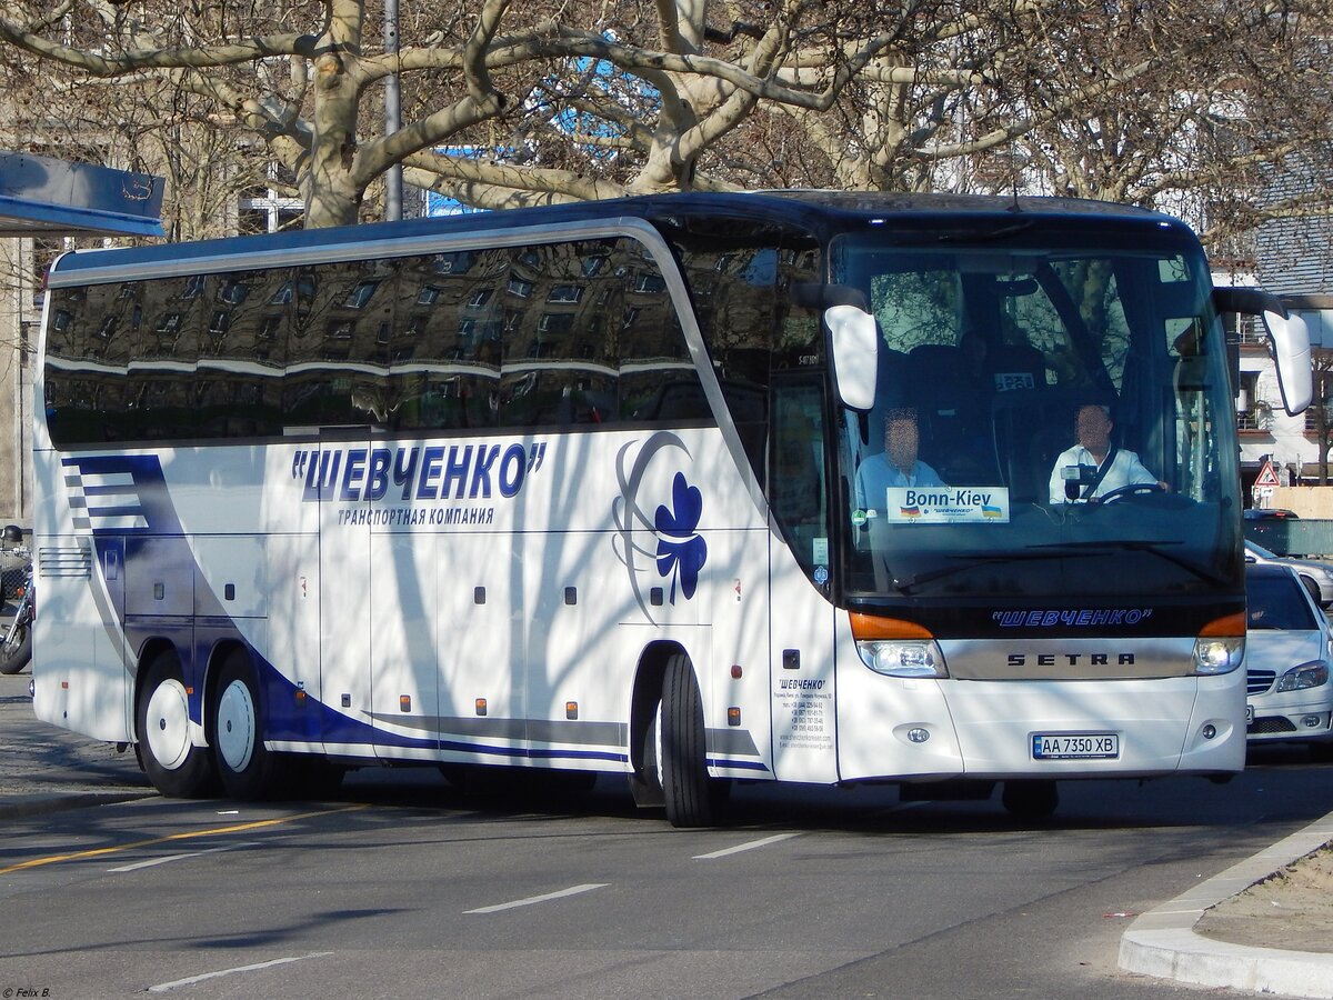
<instances>
[{"instance_id":1,"label":"right wheel of the bus's rear pair, with pale bluish-white hubcap","mask_svg":"<svg viewBox=\"0 0 1333 1000\"><path fill-rule=\"evenodd\" d=\"M209 743L223 789L232 799L253 801L289 791L292 769L264 747L264 707L249 657L233 649L223 660L209 707Z\"/></svg>"}]
</instances>

